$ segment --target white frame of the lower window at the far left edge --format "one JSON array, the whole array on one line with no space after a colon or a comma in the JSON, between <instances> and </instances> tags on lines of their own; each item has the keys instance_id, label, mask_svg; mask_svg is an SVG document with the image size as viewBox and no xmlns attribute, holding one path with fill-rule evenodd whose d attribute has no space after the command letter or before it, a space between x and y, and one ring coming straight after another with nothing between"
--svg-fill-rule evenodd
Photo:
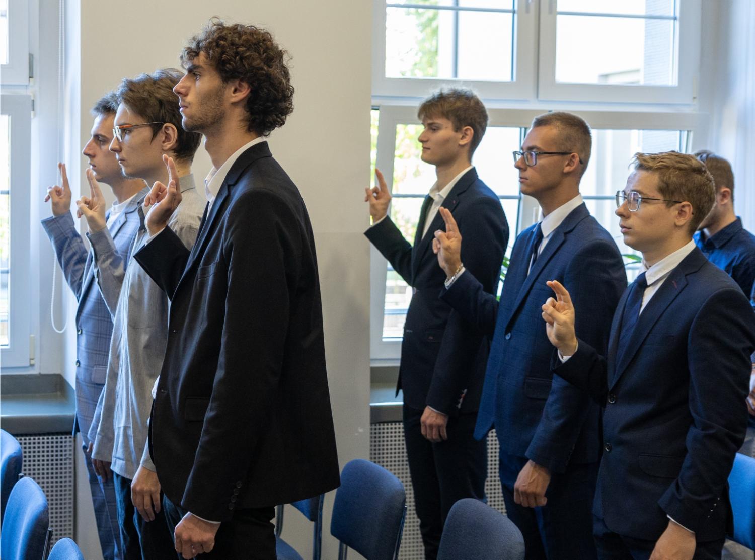
<instances>
[{"instance_id":1,"label":"white frame of the lower window at the far left edge","mask_svg":"<svg viewBox=\"0 0 755 560\"><path fill-rule=\"evenodd\" d=\"M11 295L8 314L8 347L0 350L2 368L29 367L32 301L29 216L31 213L32 97L0 96L0 113L11 122ZM26 302L26 305L24 305Z\"/></svg>"}]
</instances>

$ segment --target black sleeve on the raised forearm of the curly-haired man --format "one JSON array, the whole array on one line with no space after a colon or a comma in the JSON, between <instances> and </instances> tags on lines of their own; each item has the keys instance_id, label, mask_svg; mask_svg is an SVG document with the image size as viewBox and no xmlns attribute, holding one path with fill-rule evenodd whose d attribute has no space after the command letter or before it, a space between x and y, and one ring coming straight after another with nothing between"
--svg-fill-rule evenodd
<instances>
[{"instance_id":1,"label":"black sleeve on the raised forearm of the curly-haired man","mask_svg":"<svg viewBox=\"0 0 755 560\"><path fill-rule=\"evenodd\" d=\"M186 269L189 254L180 237L166 227L140 248L134 259L149 274L149 278L168 294L168 298L172 298Z\"/></svg>"}]
</instances>

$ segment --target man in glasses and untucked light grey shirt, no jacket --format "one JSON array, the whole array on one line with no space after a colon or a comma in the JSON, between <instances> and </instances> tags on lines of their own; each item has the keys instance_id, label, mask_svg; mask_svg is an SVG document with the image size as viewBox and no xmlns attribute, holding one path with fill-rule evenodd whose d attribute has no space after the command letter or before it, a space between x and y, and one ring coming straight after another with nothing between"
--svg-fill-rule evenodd
<instances>
[{"instance_id":1,"label":"man in glasses and untucked light grey shirt, no jacket","mask_svg":"<svg viewBox=\"0 0 755 560\"><path fill-rule=\"evenodd\" d=\"M125 176L149 185L168 183L163 160L171 158L182 198L168 223L183 245L191 248L205 207L191 174L202 135L181 126L173 88L182 77L180 70L165 69L121 82L110 151ZM124 558L168 558L175 552L173 539L161 510L156 468L146 448L152 388L168 338L168 296L141 266L126 268L114 251L99 204L102 193L96 178L88 174L88 179L91 209L82 207L82 213L89 225L97 284L114 324L105 389L89 432L94 442L92 457L112 462ZM141 225L133 253L147 238L141 205L137 214Z\"/></svg>"}]
</instances>

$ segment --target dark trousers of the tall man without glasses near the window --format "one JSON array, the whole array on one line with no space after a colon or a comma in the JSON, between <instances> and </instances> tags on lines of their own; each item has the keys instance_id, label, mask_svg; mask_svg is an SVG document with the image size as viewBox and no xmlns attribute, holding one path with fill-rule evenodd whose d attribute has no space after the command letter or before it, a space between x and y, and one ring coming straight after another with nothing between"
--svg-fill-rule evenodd
<instances>
[{"instance_id":1,"label":"dark trousers of the tall man without glasses near the window","mask_svg":"<svg viewBox=\"0 0 755 560\"><path fill-rule=\"evenodd\" d=\"M448 439L429 442L421 432L422 413L404 405L404 439L425 558L435 560L451 506L462 498L485 500L488 444L473 437L476 413L449 418Z\"/></svg>"}]
</instances>

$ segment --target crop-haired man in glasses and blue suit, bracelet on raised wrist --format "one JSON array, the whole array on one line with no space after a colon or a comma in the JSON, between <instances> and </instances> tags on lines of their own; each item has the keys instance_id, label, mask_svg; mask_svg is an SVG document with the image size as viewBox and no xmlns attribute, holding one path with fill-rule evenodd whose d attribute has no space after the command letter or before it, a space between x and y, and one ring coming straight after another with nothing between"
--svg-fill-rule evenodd
<instances>
[{"instance_id":1,"label":"crop-haired man in glasses and blue suit, bracelet on raised wrist","mask_svg":"<svg viewBox=\"0 0 755 560\"><path fill-rule=\"evenodd\" d=\"M615 242L579 193L590 149L590 127L577 115L535 118L514 158L522 194L537 199L544 218L516 238L500 305L471 270L458 273L441 294L493 337L475 435L483 438L495 425L506 512L522 531L528 560L596 555L590 508L600 453L599 407L553 379L552 349L540 319L548 279L578 285L578 332L605 348L627 285ZM461 266L467 237L451 214L443 217L446 232L436 232L434 249L451 274Z\"/></svg>"}]
</instances>

